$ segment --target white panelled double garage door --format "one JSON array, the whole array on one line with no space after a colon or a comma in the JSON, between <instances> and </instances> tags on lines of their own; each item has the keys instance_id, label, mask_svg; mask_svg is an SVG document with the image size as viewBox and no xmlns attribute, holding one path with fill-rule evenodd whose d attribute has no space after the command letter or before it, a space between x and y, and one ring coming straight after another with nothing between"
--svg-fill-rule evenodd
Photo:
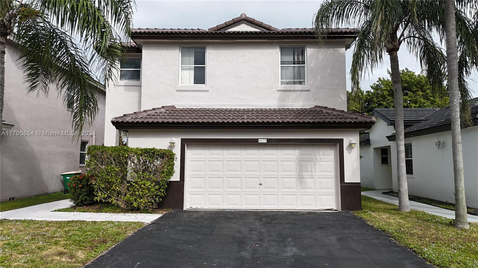
<instances>
[{"instance_id":1,"label":"white panelled double garage door","mask_svg":"<svg viewBox=\"0 0 478 268\"><path fill-rule=\"evenodd\" d=\"M337 209L334 144L186 144L186 209Z\"/></svg>"}]
</instances>

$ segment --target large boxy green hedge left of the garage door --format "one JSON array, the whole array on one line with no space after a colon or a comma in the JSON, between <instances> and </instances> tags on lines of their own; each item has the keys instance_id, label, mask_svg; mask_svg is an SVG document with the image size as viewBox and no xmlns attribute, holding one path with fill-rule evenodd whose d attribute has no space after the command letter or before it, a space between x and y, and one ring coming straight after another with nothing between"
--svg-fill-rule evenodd
<instances>
[{"instance_id":1,"label":"large boxy green hedge left of the garage door","mask_svg":"<svg viewBox=\"0 0 478 268\"><path fill-rule=\"evenodd\" d=\"M174 174L175 154L157 148L91 145L87 174L95 177L96 200L132 210L156 208Z\"/></svg>"}]
</instances>

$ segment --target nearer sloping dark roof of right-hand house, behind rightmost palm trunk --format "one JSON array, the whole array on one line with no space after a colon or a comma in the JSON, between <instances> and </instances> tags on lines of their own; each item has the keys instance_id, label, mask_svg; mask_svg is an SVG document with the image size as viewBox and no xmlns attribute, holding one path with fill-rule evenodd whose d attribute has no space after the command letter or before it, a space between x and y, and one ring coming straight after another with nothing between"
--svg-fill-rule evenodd
<instances>
[{"instance_id":1,"label":"nearer sloping dark roof of right-hand house, behind rightmost palm trunk","mask_svg":"<svg viewBox=\"0 0 478 268\"><path fill-rule=\"evenodd\" d=\"M470 100L470 113L473 119L473 125L478 125L478 98ZM420 136L451 130L450 107L438 109L424 118L421 123L414 124L405 129L405 138ZM387 136L389 141L395 140L395 134Z\"/></svg>"}]
</instances>

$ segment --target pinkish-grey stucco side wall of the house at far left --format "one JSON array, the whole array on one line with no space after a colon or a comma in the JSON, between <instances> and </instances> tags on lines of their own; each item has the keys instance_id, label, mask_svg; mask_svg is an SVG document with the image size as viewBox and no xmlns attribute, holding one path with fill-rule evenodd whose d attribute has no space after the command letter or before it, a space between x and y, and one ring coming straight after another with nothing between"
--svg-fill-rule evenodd
<instances>
[{"instance_id":1,"label":"pinkish-grey stucco side wall of the house at far left","mask_svg":"<svg viewBox=\"0 0 478 268\"><path fill-rule=\"evenodd\" d=\"M73 141L68 107L52 86L50 94L27 93L17 62L16 43L7 41L5 102L1 138L1 201L63 190L61 173L84 170L86 147L104 139L104 89L98 88L99 113L87 134ZM37 133L39 132L39 133Z\"/></svg>"}]
</instances>

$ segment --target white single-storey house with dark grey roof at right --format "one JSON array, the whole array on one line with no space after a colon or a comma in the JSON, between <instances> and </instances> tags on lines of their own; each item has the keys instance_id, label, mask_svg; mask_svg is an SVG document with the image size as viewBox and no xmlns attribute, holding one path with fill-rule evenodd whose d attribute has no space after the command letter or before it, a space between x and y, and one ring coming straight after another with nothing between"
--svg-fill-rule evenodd
<instances>
[{"instance_id":1,"label":"white single-storey house with dark grey roof at right","mask_svg":"<svg viewBox=\"0 0 478 268\"><path fill-rule=\"evenodd\" d=\"M377 123L360 137L362 186L398 190L393 109L374 109ZM473 126L461 130L467 206L478 207L478 98ZM410 195L455 203L449 107L404 109L405 164Z\"/></svg>"}]
</instances>

